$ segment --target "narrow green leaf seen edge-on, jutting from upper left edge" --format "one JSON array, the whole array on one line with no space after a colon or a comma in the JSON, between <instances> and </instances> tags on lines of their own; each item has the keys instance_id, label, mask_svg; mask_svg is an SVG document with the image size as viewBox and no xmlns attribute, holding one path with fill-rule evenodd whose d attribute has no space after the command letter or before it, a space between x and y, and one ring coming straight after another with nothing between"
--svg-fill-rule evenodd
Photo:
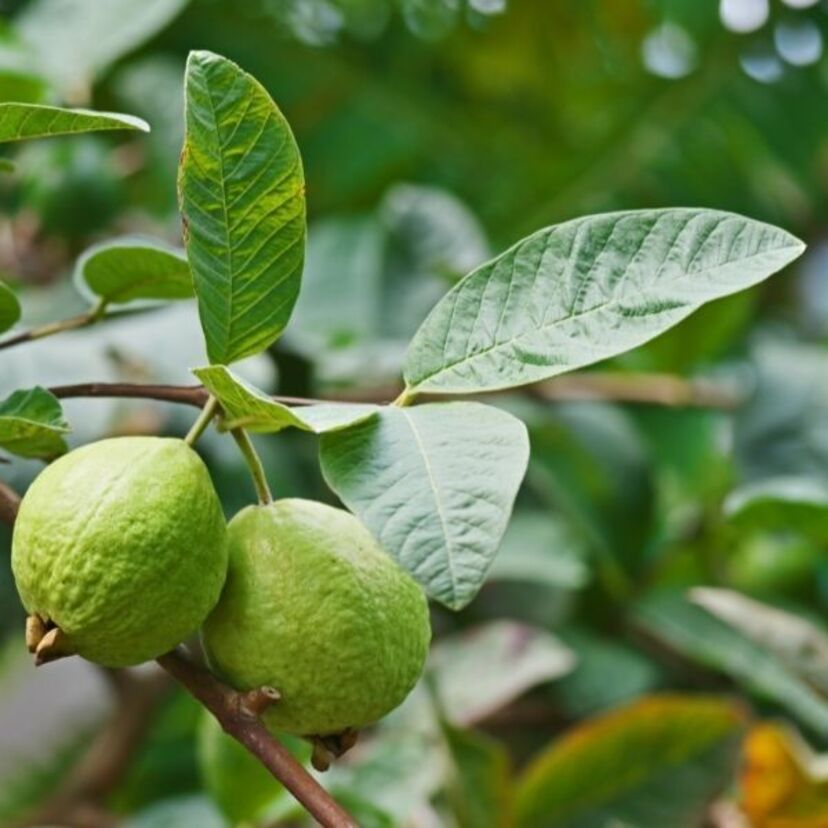
<instances>
[{"instance_id":1,"label":"narrow green leaf seen edge-on, jutting from upper left edge","mask_svg":"<svg viewBox=\"0 0 828 828\"><path fill-rule=\"evenodd\" d=\"M149 124L134 115L121 115L117 112L61 109L40 104L0 103L0 143L115 129L149 132Z\"/></svg>"}]
</instances>

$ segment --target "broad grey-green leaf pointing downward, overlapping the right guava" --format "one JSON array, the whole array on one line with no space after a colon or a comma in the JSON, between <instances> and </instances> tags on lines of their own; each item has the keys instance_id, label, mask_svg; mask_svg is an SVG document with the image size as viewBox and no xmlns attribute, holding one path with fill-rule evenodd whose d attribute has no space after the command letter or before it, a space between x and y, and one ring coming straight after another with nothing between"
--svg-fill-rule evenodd
<instances>
[{"instance_id":1,"label":"broad grey-green leaf pointing downward, overlapping the right guava","mask_svg":"<svg viewBox=\"0 0 828 828\"><path fill-rule=\"evenodd\" d=\"M472 402L391 406L322 438L330 487L452 609L483 583L528 458L523 423Z\"/></svg>"}]
</instances>

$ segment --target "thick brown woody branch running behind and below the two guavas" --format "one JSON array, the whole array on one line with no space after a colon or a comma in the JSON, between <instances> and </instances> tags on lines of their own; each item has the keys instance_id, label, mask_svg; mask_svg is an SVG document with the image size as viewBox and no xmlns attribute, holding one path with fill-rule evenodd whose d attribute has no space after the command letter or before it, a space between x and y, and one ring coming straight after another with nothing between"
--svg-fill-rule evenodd
<instances>
[{"instance_id":1,"label":"thick brown woody branch running behind and below the two guavas","mask_svg":"<svg viewBox=\"0 0 828 828\"><path fill-rule=\"evenodd\" d=\"M19 495L0 483L0 520L12 526ZM179 650L167 653L158 663L219 721L224 730L244 745L278 779L323 828L359 828L354 819L305 770L264 726L262 711L278 703L269 688L240 693L220 682L209 670Z\"/></svg>"}]
</instances>

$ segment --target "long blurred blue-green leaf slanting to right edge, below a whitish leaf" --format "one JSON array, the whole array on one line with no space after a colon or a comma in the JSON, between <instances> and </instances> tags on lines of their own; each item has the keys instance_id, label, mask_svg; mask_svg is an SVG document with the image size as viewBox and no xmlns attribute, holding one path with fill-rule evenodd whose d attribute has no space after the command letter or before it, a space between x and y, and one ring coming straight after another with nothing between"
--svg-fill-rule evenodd
<instances>
[{"instance_id":1,"label":"long blurred blue-green leaf slanting to right edge, below a whitish leaf","mask_svg":"<svg viewBox=\"0 0 828 828\"><path fill-rule=\"evenodd\" d=\"M814 730L828 730L828 701L809 682L774 652L694 606L683 595L649 595L636 607L636 616L648 635L686 658L776 702Z\"/></svg>"}]
</instances>

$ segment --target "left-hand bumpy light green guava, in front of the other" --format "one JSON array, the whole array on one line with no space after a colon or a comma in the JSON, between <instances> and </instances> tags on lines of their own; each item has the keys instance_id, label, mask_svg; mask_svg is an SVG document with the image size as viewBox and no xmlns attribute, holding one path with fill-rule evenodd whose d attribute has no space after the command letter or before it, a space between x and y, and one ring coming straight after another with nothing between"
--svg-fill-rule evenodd
<instances>
[{"instance_id":1,"label":"left-hand bumpy light green guava, in front of the other","mask_svg":"<svg viewBox=\"0 0 828 828\"><path fill-rule=\"evenodd\" d=\"M197 630L227 573L227 530L181 440L121 437L61 457L32 483L12 539L23 605L90 661L125 667Z\"/></svg>"}]
</instances>

